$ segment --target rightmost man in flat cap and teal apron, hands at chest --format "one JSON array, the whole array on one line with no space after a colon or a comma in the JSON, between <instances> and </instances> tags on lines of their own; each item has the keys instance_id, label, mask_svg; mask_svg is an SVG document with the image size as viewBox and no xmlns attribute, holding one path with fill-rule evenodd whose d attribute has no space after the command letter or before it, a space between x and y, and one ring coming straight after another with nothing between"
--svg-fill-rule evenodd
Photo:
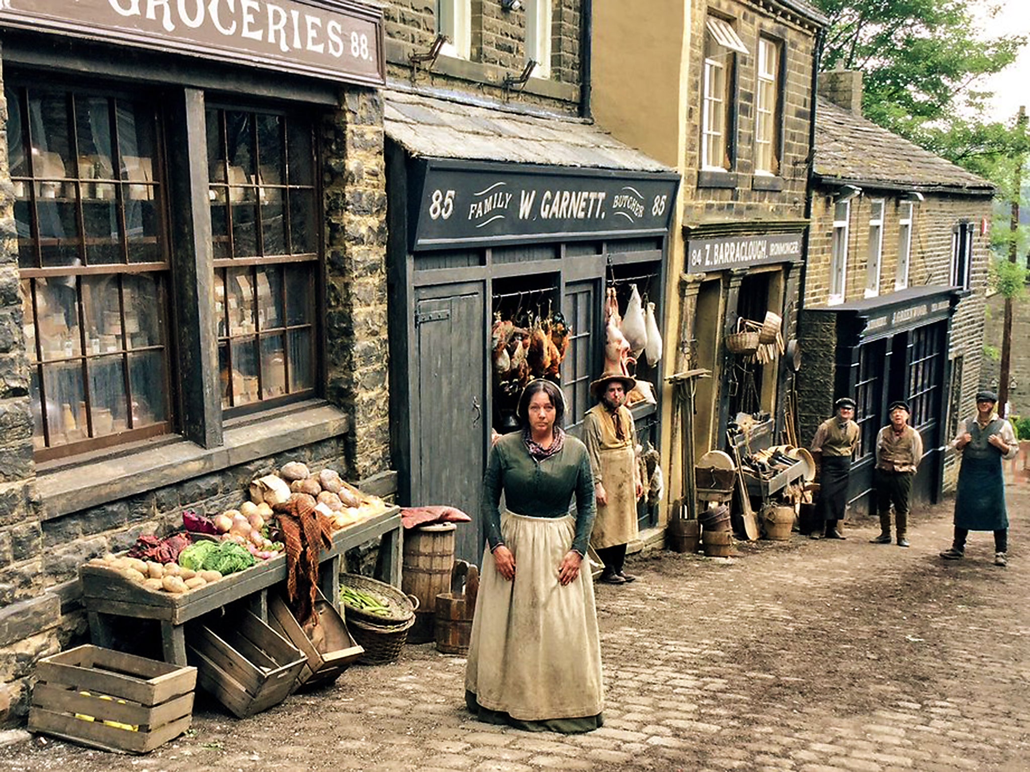
<instances>
[{"instance_id":1,"label":"rightmost man in flat cap and teal apron, hands at chest","mask_svg":"<svg viewBox=\"0 0 1030 772\"><path fill-rule=\"evenodd\" d=\"M940 553L945 560L965 556L969 531L994 531L994 564L1003 566L1008 552L1008 513L1001 459L1016 458L1020 445L1012 425L994 412L998 395L976 392L976 415L959 424L949 445L962 454L955 496L955 540Z\"/></svg>"}]
</instances>

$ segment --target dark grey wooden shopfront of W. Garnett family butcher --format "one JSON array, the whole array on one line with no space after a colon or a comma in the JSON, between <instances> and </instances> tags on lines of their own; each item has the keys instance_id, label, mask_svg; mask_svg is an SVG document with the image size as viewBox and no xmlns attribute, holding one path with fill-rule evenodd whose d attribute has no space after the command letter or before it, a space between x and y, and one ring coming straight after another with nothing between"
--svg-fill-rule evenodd
<instances>
[{"instance_id":1,"label":"dark grey wooden shopfront of W. Garnett family butcher","mask_svg":"<svg viewBox=\"0 0 1030 772\"><path fill-rule=\"evenodd\" d=\"M506 358L507 349L501 351L503 337L509 337L512 328L530 332L544 325L558 329L563 324L568 328L564 356L560 366L552 365L552 371L557 370L552 375L565 394L565 426L578 434L583 413L592 405L589 384L604 366L606 288L615 288L624 310L636 284L645 302L655 303L661 318L667 210L650 224L624 234L619 233L618 223L602 229L608 224L604 220L613 216L608 210L593 225L579 223L594 233L594 238L585 238L583 230L571 234L568 227L555 231L554 222L542 222L539 197L543 194L553 201L562 185L588 189L598 179L603 185L612 184L611 172L594 177L549 169L535 176L523 173L525 167L515 167L519 172L512 174L510 166L470 163L472 185L464 187L460 178L449 185L435 184L432 169L428 183L423 184L426 169L414 162L409 167L403 150L397 147L390 150L388 163L390 283L391 299L397 300L390 312L391 431L400 500L448 503L472 515L476 527L458 530L456 552L460 558L478 562L483 545L479 517L482 476L490 432L515 428L514 412L521 391L512 369L503 370L511 364L512 356ZM484 179L484 174L494 176ZM462 199L467 187L481 191L500 181L504 184L494 190L512 192L509 202L517 198L525 201L527 195L533 196L531 186L541 180L544 185L537 188L535 201L536 224L531 215L521 223L511 221L517 215L511 216L513 210L505 208L504 198L495 198L484 214L494 217L488 227L503 230L487 237L475 223L469 226L468 219L448 230L440 216L434 218L432 232L418 230L417 212L399 221L400 207L393 206L393 202L417 204L424 200L432 207L434 192L439 189L440 208L434 212L447 211L443 207L448 191L452 191L452 211L479 213L481 209L474 210L469 200ZM654 186L653 191L648 183ZM412 184L416 189L405 196L404 190ZM644 195L672 197L676 177L637 174L632 185ZM652 203L649 199L648 206ZM578 211L589 213L590 206L585 199ZM566 211L572 207L570 203ZM427 216L430 209L422 214ZM626 217L615 219L629 222ZM423 235L430 243L420 243ZM657 370L643 361L637 374L659 393ZM641 443L645 448L648 443L657 448L658 407L643 405L633 413ZM642 527L654 525L657 507L642 504L640 516Z\"/></svg>"}]
</instances>

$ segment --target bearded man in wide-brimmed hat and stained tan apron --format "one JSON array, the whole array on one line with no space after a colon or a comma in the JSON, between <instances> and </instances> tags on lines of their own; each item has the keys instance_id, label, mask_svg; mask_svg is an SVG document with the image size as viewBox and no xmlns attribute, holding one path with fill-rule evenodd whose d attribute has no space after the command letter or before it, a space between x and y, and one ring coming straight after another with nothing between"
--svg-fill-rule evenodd
<instances>
[{"instance_id":1,"label":"bearded man in wide-brimmed hat and stained tan apron","mask_svg":"<svg viewBox=\"0 0 1030 772\"><path fill-rule=\"evenodd\" d=\"M637 577L623 569L626 547L638 536L637 500L644 493L637 461L637 427L625 407L637 381L622 373L607 372L590 384L597 403L583 423L593 471L597 517L590 545L605 563L599 582L624 585Z\"/></svg>"}]
</instances>

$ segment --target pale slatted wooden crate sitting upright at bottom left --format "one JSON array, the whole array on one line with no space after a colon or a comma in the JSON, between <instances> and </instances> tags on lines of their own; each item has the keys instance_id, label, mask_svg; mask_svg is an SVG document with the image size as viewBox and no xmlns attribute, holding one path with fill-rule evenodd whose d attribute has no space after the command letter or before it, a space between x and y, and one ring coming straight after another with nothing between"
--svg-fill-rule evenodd
<instances>
[{"instance_id":1,"label":"pale slatted wooden crate sitting upright at bottom left","mask_svg":"<svg viewBox=\"0 0 1030 772\"><path fill-rule=\"evenodd\" d=\"M193 721L195 667L87 644L43 658L36 677L29 708L33 732L103 750L146 753L178 737Z\"/></svg>"}]
</instances>

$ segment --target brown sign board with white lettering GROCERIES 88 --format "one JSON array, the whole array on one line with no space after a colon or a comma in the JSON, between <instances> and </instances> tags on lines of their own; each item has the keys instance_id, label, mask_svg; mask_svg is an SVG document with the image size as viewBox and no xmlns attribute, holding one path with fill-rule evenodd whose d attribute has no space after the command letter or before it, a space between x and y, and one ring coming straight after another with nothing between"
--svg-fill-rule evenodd
<instances>
[{"instance_id":1,"label":"brown sign board with white lettering GROCERIES 88","mask_svg":"<svg viewBox=\"0 0 1030 772\"><path fill-rule=\"evenodd\" d=\"M0 27L383 84L382 11L348 0L0 0Z\"/></svg>"}]
</instances>

